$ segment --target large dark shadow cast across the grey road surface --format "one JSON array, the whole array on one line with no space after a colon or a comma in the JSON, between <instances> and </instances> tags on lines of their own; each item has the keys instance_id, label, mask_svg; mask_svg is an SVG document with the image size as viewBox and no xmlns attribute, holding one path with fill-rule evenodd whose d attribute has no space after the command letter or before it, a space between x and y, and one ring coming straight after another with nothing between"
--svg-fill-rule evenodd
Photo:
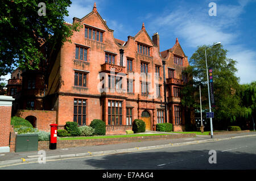
<instances>
[{"instance_id":1,"label":"large dark shadow cast across the grey road surface","mask_svg":"<svg viewBox=\"0 0 256 181\"><path fill-rule=\"evenodd\" d=\"M157 169L256 169L256 154L238 151L216 150L216 163L209 150L193 151L142 151L140 153L118 153L86 159L84 163L95 169L108 170L157 170Z\"/></svg>"}]
</instances>

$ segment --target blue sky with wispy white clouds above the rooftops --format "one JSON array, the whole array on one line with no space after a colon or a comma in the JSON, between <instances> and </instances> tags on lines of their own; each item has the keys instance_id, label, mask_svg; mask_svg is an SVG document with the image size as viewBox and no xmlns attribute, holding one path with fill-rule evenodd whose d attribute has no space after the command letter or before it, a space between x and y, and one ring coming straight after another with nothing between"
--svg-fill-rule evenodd
<instances>
[{"instance_id":1,"label":"blue sky with wispy white clouds above the rooftops","mask_svg":"<svg viewBox=\"0 0 256 181\"><path fill-rule=\"evenodd\" d=\"M201 45L221 42L228 50L227 57L237 61L240 83L256 81L256 0L71 0L69 16L82 18L97 11L105 19L114 37L127 41L135 36L144 23L150 37L160 36L160 51L174 46L176 37L190 58ZM216 4L216 16L210 16ZM8 76L8 75L7 75Z\"/></svg>"}]
</instances>

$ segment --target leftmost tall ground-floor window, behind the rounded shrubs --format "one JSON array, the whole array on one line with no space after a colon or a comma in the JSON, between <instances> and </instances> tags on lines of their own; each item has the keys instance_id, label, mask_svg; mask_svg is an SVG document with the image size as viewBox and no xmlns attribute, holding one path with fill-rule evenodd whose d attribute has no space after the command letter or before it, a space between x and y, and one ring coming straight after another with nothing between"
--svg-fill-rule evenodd
<instances>
[{"instance_id":1,"label":"leftmost tall ground-floor window, behind the rounded shrubs","mask_svg":"<svg viewBox=\"0 0 256 181\"><path fill-rule=\"evenodd\" d=\"M86 100L74 99L73 121L78 125L86 125Z\"/></svg>"}]
</instances>

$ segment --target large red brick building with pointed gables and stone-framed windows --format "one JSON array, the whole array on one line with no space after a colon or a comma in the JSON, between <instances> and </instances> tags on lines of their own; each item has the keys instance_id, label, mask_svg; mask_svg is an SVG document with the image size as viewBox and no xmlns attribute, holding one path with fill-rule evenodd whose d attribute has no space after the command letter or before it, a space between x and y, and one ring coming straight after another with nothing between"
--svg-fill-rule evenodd
<instances>
[{"instance_id":1,"label":"large red brick building with pointed gables and stone-framed windows","mask_svg":"<svg viewBox=\"0 0 256 181\"><path fill-rule=\"evenodd\" d=\"M34 110L54 110L60 127L67 121L89 125L93 119L101 119L108 134L125 133L134 119L142 119L146 129L155 130L156 124L165 120L164 61L166 120L174 124L174 131L183 131L180 89L187 81L183 70L188 60L179 41L176 39L171 49L159 52L158 33L151 39L144 23L127 41L115 39L114 30L101 18L95 4L84 18L73 18L76 22L82 28L73 33L72 43L64 43L52 56L55 58L47 64L47 76L23 73L22 89L27 91L23 91L19 109L34 102ZM31 84L35 85L34 92L27 89L29 78L35 80Z\"/></svg>"}]
</instances>

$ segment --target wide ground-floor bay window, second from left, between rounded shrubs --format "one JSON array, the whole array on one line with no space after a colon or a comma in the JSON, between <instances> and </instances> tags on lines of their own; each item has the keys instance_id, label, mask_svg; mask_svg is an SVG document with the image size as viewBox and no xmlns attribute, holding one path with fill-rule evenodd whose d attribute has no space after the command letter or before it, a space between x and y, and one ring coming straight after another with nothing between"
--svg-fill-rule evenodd
<instances>
[{"instance_id":1,"label":"wide ground-floor bay window, second from left, between rounded shrubs","mask_svg":"<svg viewBox=\"0 0 256 181\"><path fill-rule=\"evenodd\" d=\"M108 124L122 125L122 101L109 100L108 102Z\"/></svg>"}]
</instances>

